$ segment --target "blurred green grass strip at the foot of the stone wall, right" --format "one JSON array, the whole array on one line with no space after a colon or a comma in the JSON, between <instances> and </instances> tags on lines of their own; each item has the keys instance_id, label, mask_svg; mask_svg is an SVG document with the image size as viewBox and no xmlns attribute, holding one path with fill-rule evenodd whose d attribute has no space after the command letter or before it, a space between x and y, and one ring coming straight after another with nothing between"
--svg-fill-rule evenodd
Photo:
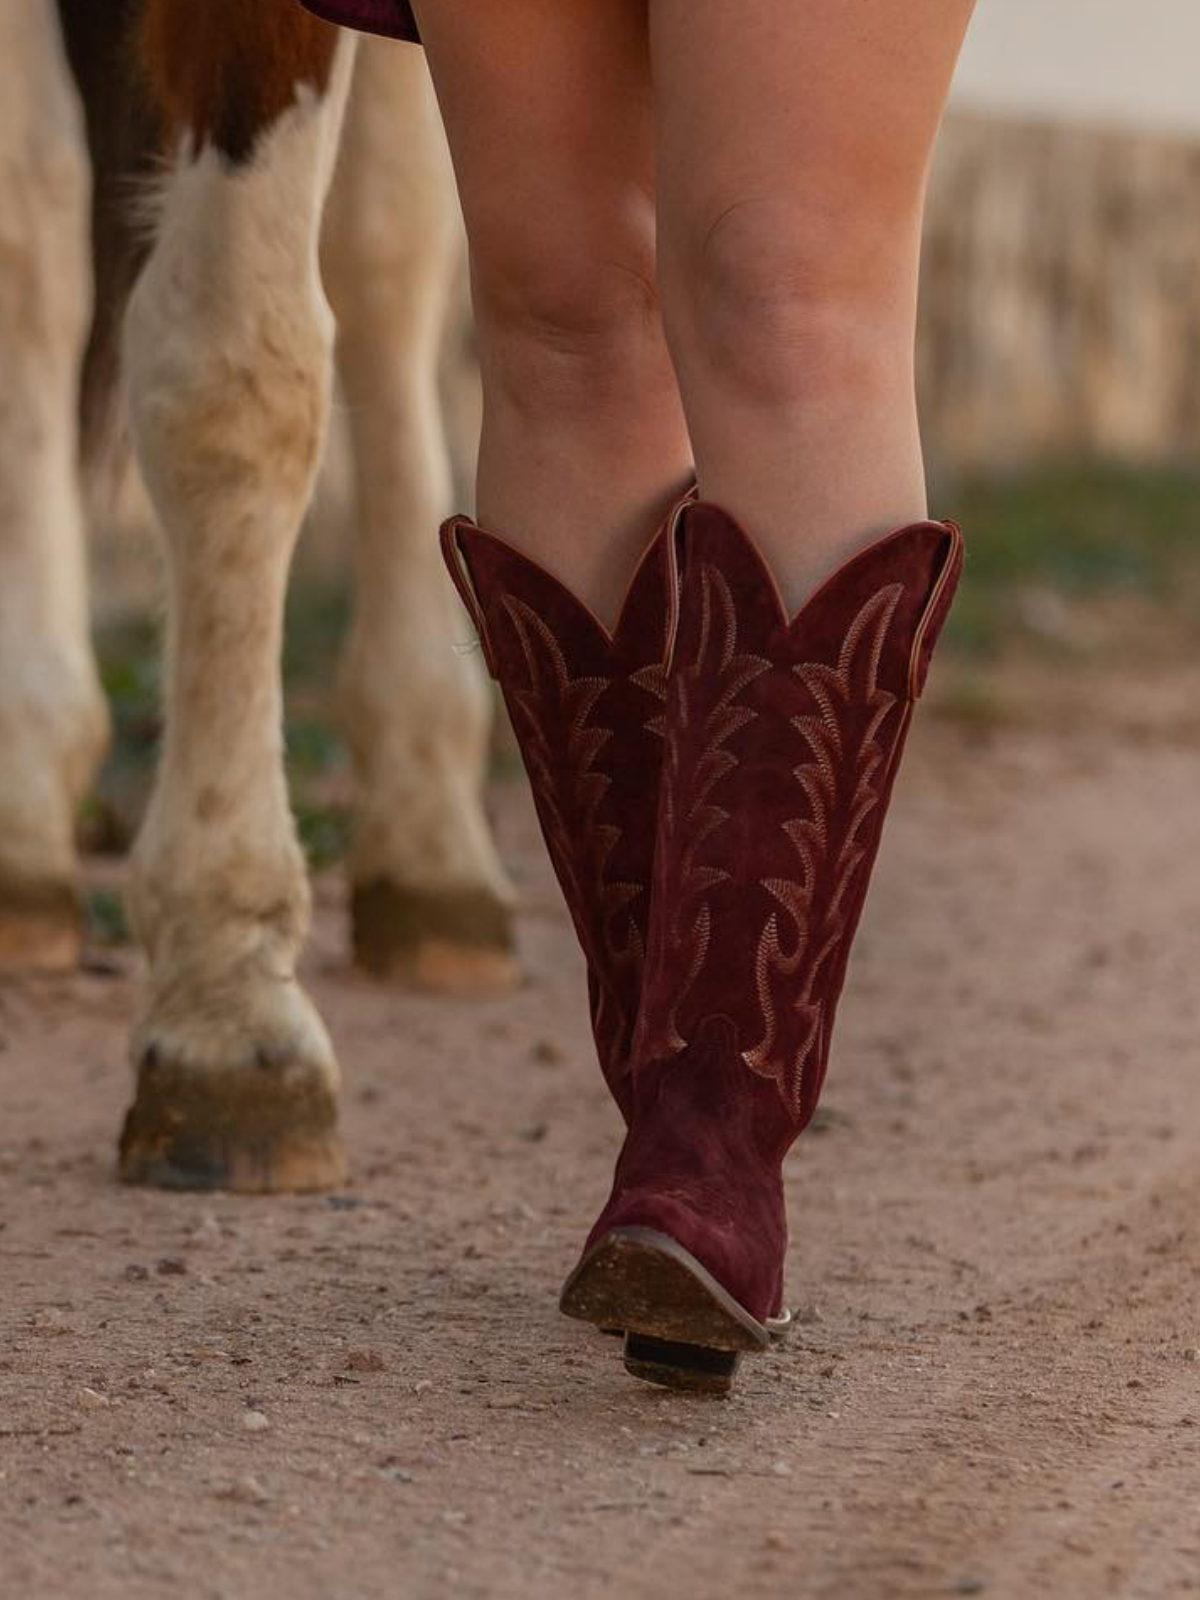
<instances>
[{"instance_id":1,"label":"blurred green grass strip at the foot of the stone wall, right","mask_svg":"<svg viewBox=\"0 0 1200 1600\"><path fill-rule=\"evenodd\" d=\"M1083 462L976 478L942 496L966 534L947 638L987 654L1021 627L1021 600L1138 595L1184 621L1200 587L1200 470Z\"/></svg>"}]
</instances>

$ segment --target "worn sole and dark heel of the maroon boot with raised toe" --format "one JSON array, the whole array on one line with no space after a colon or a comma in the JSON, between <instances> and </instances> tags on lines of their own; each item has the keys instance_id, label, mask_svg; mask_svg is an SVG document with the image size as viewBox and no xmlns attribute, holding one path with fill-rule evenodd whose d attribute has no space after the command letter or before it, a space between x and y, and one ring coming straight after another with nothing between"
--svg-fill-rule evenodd
<instances>
[{"instance_id":1,"label":"worn sole and dark heel of the maroon boot with raised toe","mask_svg":"<svg viewBox=\"0 0 1200 1600\"><path fill-rule=\"evenodd\" d=\"M566 1317L626 1333L626 1371L667 1389L725 1395L757 1322L696 1258L651 1227L614 1227L589 1250L558 1301Z\"/></svg>"}]
</instances>

